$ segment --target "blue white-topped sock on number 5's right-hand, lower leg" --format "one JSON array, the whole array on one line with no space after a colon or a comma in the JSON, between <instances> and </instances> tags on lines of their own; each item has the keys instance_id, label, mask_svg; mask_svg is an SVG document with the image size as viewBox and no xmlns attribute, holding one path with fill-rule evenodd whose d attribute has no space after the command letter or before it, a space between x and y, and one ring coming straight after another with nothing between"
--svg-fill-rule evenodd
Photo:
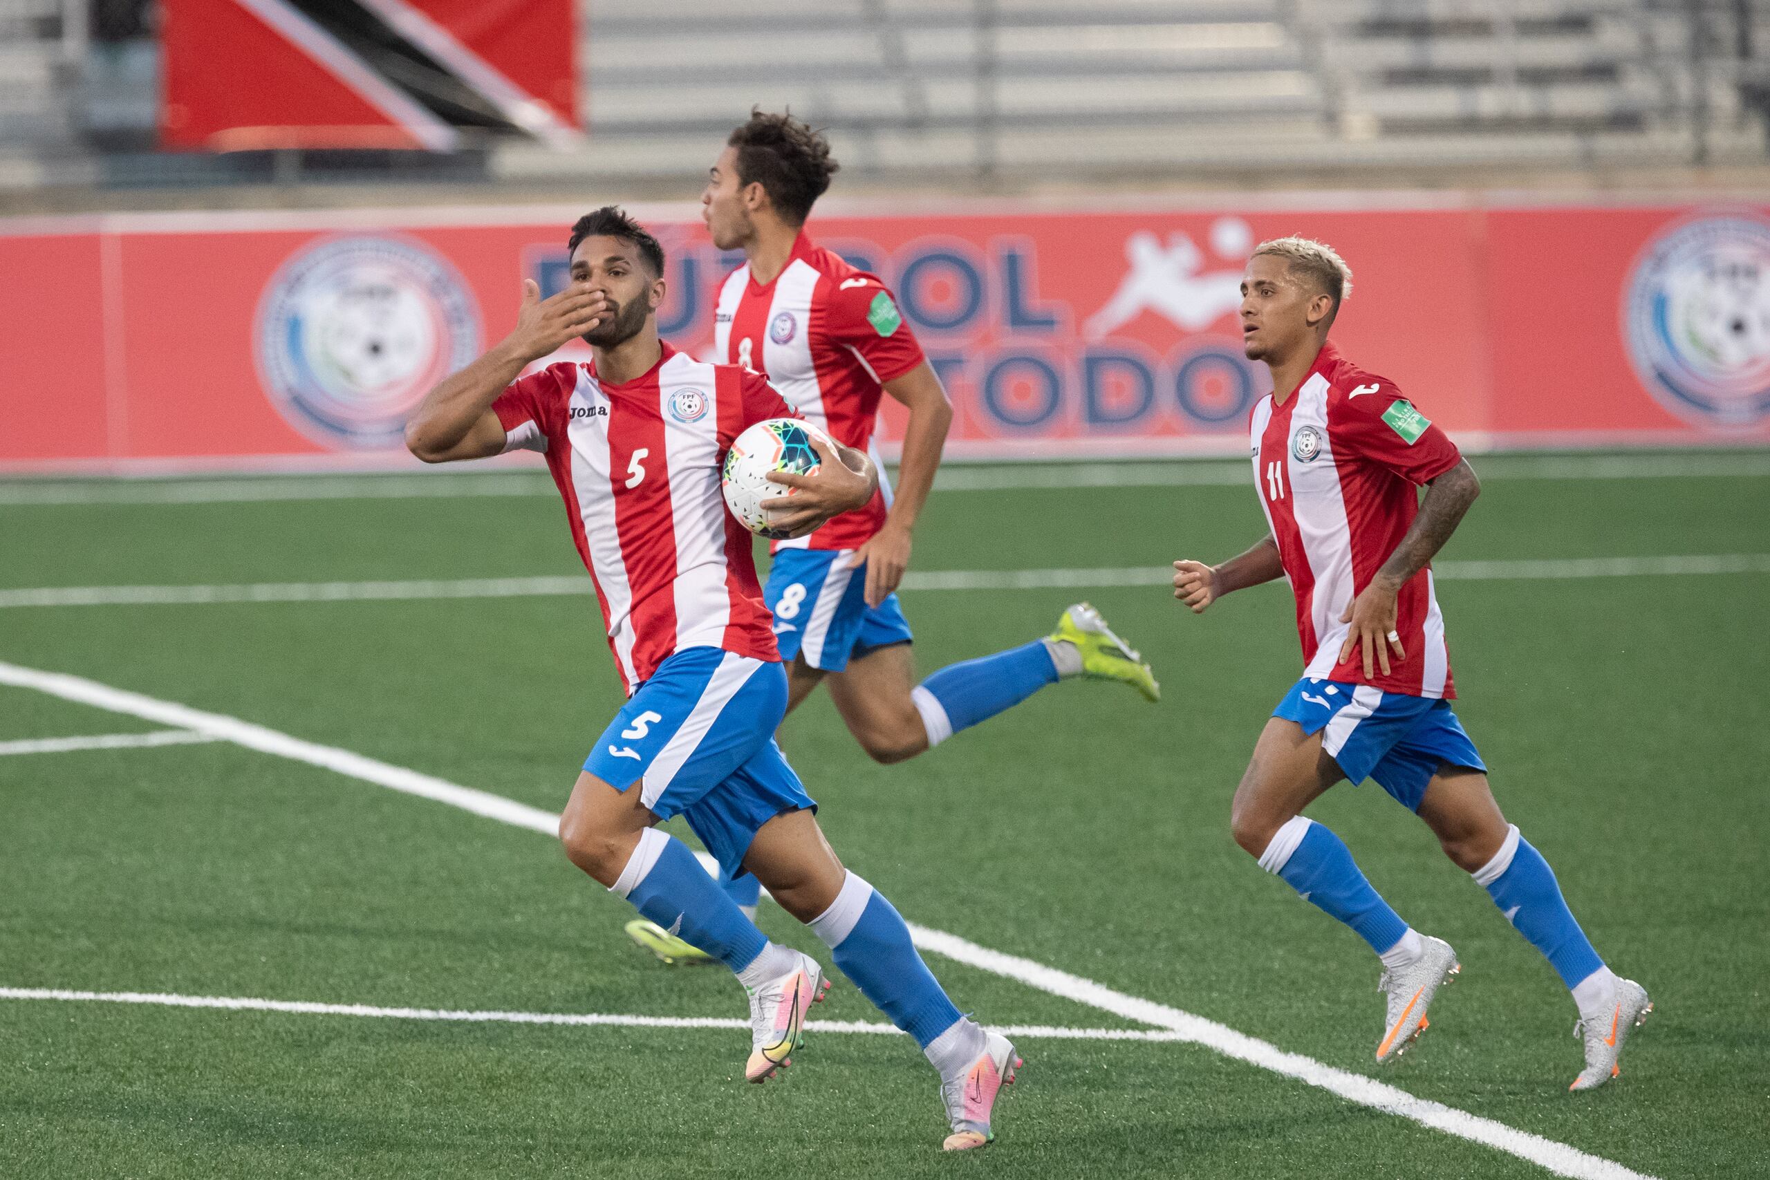
<instances>
[{"instance_id":1,"label":"blue white-topped sock on number 5's right-hand, lower leg","mask_svg":"<svg viewBox=\"0 0 1770 1180\"><path fill-rule=\"evenodd\" d=\"M860 994L924 1051L963 1019L917 954L910 927L883 893L853 872L830 908L811 920L811 929Z\"/></svg>"}]
</instances>

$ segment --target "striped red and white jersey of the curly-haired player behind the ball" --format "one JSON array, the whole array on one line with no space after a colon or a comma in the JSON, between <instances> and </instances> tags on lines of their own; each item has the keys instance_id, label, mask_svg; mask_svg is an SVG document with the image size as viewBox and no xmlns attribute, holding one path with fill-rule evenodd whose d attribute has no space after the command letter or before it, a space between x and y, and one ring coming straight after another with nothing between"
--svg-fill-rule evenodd
<instances>
[{"instance_id":1,"label":"striped red and white jersey of the curly-haired player behind the ball","mask_svg":"<svg viewBox=\"0 0 1770 1180\"><path fill-rule=\"evenodd\" d=\"M713 356L761 373L800 414L878 464L873 426L883 384L920 364L922 345L876 276L800 232L772 283L752 281L749 264L726 276ZM889 497L881 478L866 508L775 548L858 548L885 524Z\"/></svg>"}]
</instances>

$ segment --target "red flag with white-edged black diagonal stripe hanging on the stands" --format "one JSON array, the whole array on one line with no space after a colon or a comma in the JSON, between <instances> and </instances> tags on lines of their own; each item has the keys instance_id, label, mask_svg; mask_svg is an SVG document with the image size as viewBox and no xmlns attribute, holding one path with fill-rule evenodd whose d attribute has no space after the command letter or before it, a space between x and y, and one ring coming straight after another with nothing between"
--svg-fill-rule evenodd
<instances>
[{"instance_id":1,"label":"red flag with white-edged black diagonal stripe hanging on the stands","mask_svg":"<svg viewBox=\"0 0 1770 1180\"><path fill-rule=\"evenodd\" d=\"M161 143L579 140L573 0L163 0Z\"/></svg>"}]
</instances>

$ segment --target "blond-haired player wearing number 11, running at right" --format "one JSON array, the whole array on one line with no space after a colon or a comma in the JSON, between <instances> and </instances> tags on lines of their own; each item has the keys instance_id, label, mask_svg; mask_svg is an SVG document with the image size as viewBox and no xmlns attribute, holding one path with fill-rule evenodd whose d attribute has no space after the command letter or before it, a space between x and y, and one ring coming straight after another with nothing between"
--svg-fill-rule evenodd
<instances>
[{"instance_id":1,"label":"blond-haired player wearing number 11, running at right","mask_svg":"<svg viewBox=\"0 0 1770 1180\"><path fill-rule=\"evenodd\" d=\"M1421 936L1370 886L1352 853L1303 808L1342 778L1375 778L1487 888L1579 1007L1586 1069L1574 1090L1618 1074L1628 1031L1653 1010L1574 920L1542 854L1508 824L1487 766L1451 711L1457 695L1432 556L1480 483L1457 446L1384 377L1328 343L1352 272L1303 237L1262 242L1241 283L1248 357L1273 370L1253 407L1253 476L1269 534L1220 566L1174 563L1174 596L1204 612L1223 594L1289 577L1303 679L1280 701L1235 789L1230 826L1260 867L1352 927L1382 959L1377 1060L1427 1028L1457 952ZM1418 497L1414 487L1427 488Z\"/></svg>"}]
</instances>

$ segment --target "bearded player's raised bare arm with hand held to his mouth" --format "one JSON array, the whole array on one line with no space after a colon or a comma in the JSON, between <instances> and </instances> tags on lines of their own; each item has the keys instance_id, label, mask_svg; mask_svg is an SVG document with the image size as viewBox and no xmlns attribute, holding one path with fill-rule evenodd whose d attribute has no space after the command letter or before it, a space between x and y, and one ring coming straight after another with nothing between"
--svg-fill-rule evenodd
<instances>
[{"instance_id":1,"label":"bearded player's raised bare arm with hand held to his mouth","mask_svg":"<svg viewBox=\"0 0 1770 1180\"><path fill-rule=\"evenodd\" d=\"M517 327L473 364L437 382L405 423L405 449L427 464L489 458L504 449L504 425L492 402L531 363L582 336L607 308L607 297L579 283L542 299L533 280L522 281Z\"/></svg>"}]
</instances>

